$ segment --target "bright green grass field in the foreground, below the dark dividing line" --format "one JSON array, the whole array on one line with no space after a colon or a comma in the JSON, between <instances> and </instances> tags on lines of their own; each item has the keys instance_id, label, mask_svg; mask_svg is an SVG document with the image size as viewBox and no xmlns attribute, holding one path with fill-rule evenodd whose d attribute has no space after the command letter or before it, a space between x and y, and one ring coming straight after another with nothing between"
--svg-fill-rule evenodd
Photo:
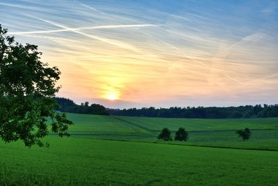
<instances>
[{"instance_id":1,"label":"bright green grass field in the foreground, below the dark dividing line","mask_svg":"<svg viewBox=\"0 0 278 186\"><path fill-rule=\"evenodd\" d=\"M277 185L278 152L48 137L0 142L0 185Z\"/></svg>"}]
</instances>

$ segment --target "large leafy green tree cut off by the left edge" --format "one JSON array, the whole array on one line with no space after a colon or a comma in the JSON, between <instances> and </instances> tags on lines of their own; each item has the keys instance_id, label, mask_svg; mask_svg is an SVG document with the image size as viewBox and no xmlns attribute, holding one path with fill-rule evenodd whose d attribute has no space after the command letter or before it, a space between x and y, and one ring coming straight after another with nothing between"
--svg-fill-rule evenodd
<instances>
[{"instance_id":1,"label":"large leafy green tree cut off by the left edge","mask_svg":"<svg viewBox=\"0 0 278 186\"><path fill-rule=\"evenodd\" d=\"M25 146L44 146L41 139L49 130L60 137L69 136L66 114L58 114L53 99L60 70L40 61L36 45L22 45L0 24L0 138L11 142L22 140Z\"/></svg>"}]
</instances>

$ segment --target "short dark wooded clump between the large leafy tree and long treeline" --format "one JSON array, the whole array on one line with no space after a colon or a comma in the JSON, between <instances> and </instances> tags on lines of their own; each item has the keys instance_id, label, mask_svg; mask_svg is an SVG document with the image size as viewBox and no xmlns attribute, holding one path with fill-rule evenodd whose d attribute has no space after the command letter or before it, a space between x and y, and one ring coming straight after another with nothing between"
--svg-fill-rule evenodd
<instances>
[{"instance_id":1,"label":"short dark wooded clump between the large leafy tree and long treeline","mask_svg":"<svg viewBox=\"0 0 278 186\"><path fill-rule=\"evenodd\" d=\"M76 114L97 114L97 115L109 115L106 108L100 104L90 104L89 102L81 103L81 105L74 103L67 98L54 98L60 107L57 111L70 112Z\"/></svg>"}]
</instances>

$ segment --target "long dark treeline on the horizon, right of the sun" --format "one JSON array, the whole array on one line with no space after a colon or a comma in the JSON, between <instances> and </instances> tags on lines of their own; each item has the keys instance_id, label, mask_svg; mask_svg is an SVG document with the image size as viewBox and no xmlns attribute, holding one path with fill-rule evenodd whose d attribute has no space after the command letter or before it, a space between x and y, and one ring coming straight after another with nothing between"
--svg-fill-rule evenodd
<instances>
[{"instance_id":1,"label":"long dark treeline on the horizon, right of the sun","mask_svg":"<svg viewBox=\"0 0 278 186\"><path fill-rule=\"evenodd\" d=\"M161 118L266 118L278 117L278 104L256 104L240 107L154 107L142 109L108 109L115 116L145 116Z\"/></svg>"}]
</instances>

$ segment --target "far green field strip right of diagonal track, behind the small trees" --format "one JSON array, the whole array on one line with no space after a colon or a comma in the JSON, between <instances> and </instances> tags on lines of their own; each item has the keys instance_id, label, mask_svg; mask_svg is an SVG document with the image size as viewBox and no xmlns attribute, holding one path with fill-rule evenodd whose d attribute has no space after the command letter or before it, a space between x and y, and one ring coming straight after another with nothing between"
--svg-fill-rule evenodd
<instances>
[{"instance_id":1,"label":"far green field strip right of diagonal track, behind the small trees","mask_svg":"<svg viewBox=\"0 0 278 186\"><path fill-rule=\"evenodd\" d=\"M238 130L248 127L250 129L278 129L278 118L248 118L248 119L188 119L188 118L147 118L115 116L124 121L136 123L149 130L161 130L168 127L177 130L185 127L189 131L199 130Z\"/></svg>"}]
</instances>

